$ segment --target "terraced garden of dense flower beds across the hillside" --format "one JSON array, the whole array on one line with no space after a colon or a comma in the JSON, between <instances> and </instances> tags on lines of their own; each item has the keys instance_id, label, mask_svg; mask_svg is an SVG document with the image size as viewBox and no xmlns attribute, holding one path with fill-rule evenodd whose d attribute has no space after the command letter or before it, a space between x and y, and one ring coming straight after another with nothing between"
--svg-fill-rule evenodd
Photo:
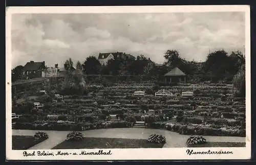
<instances>
[{"instance_id":1,"label":"terraced garden of dense flower beds across the hillside","mask_svg":"<svg viewBox=\"0 0 256 165\"><path fill-rule=\"evenodd\" d=\"M155 92L161 89L174 95L155 97ZM91 91L88 95L64 96L63 102L51 101L52 96L45 95L13 106L13 111L22 115L13 129L82 131L143 127L189 135L245 137L245 98L237 97L230 85L159 87L140 83L91 85L88 90ZM135 97L135 91L145 91L146 95ZM194 96L181 97L185 91L194 92ZM31 107L33 101L44 103L42 111L20 113L23 112L20 109Z\"/></svg>"}]
</instances>

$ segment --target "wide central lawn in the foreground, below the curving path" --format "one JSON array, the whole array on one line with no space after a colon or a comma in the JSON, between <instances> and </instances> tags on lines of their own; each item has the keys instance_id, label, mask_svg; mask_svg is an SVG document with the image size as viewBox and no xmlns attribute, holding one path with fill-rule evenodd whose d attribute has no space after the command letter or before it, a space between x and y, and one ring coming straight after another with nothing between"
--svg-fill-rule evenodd
<instances>
[{"instance_id":1,"label":"wide central lawn in the foreground, below the curving path","mask_svg":"<svg viewBox=\"0 0 256 165\"><path fill-rule=\"evenodd\" d=\"M86 137L81 141L63 141L52 149L162 148L163 145L145 139Z\"/></svg>"}]
</instances>

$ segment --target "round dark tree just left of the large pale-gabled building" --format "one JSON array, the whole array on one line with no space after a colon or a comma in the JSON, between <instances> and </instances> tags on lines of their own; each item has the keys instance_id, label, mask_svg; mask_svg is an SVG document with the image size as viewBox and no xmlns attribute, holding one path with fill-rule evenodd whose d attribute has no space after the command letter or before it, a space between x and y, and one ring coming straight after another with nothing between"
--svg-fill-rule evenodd
<instances>
[{"instance_id":1,"label":"round dark tree just left of the large pale-gabled building","mask_svg":"<svg viewBox=\"0 0 256 165\"><path fill-rule=\"evenodd\" d=\"M82 67L85 74L99 74L101 71L101 64L96 57L93 56L86 58Z\"/></svg>"}]
</instances>

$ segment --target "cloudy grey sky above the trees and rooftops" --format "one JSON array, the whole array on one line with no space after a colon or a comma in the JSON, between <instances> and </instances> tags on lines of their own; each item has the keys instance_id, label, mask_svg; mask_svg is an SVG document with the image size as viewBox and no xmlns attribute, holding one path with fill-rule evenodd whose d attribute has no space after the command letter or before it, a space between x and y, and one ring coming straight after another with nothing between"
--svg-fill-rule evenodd
<instances>
[{"instance_id":1,"label":"cloudy grey sky above the trees and rooftops","mask_svg":"<svg viewBox=\"0 0 256 165\"><path fill-rule=\"evenodd\" d=\"M99 52L123 51L163 63L167 49L204 61L210 50L241 50L241 12L144 14L13 14L12 68L28 61L62 66Z\"/></svg>"}]
</instances>

